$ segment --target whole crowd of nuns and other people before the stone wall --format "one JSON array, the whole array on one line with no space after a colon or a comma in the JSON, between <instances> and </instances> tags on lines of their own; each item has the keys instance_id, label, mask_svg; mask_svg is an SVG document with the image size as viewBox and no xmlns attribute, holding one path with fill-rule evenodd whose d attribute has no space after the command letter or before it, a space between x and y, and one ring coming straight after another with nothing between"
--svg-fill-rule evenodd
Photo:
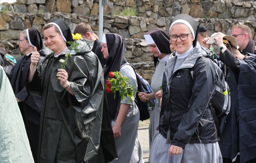
<instances>
[{"instance_id":1,"label":"whole crowd of nuns and other people before the stone wall","mask_svg":"<svg viewBox=\"0 0 256 163\"><path fill-rule=\"evenodd\" d=\"M143 102L156 100L149 111L149 162L256 162L256 46L250 28L234 25L231 35L209 37L205 26L179 14L168 32L144 33L155 64L153 93L138 93ZM36 28L20 33L17 45L25 55L17 63L5 65L0 49L0 162L144 163L138 106L105 89L111 72L138 87L124 38L104 33L100 42L86 23L73 33L80 36L53 19L43 36ZM217 80L210 54L231 92L230 112L219 127L210 104Z\"/></svg>"}]
</instances>

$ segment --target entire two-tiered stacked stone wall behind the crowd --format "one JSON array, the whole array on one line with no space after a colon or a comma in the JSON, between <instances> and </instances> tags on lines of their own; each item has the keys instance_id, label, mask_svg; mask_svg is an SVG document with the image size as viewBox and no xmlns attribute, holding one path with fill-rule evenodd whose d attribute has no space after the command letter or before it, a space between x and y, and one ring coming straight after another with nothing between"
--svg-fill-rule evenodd
<instances>
[{"instance_id":1,"label":"entire two-tiered stacked stone wall behind the crowd","mask_svg":"<svg viewBox=\"0 0 256 163\"><path fill-rule=\"evenodd\" d=\"M19 59L22 55L16 43L20 32L35 27L42 33L42 26L54 18L65 20L72 32L76 24L89 23L98 34L97 6L97 0L17 0L13 7L18 13L0 14L0 42L7 53ZM117 12L116 8L122 11L127 7L137 7L138 17L110 15ZM230 34L234 24L246 24L256 40L255 8L255 1L239 0L109 0L104 5L108 15L103 18L103 33L118 33L126 39L126 58L150 81L154 73L153 56L143 39L145 32L154 28L169 31L173 16L185 13L206 26L209 36L214 32ZM219 53L216 47L215 52Z\"/></svg>"}]
</instances>

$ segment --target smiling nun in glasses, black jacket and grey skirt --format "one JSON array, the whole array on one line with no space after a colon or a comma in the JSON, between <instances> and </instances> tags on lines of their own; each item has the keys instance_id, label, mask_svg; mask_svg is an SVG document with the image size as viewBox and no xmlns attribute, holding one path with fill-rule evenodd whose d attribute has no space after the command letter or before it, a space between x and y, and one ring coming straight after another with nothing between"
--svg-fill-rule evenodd
<instances>
[{"instance_id":1,"label":"smiling nun in glasses, black jacket and grey skirt","mask_svg":"<svg viewBox=\"0 0 256 163\"><path fill-rule=\"evenodd\" d=\"M170 23L176 52L163 75L159 132L150 162L222 163L217 130L209 106L215 89L215 70L197 42L199 24L179 14ZM193 69L191 69L193 68Z\"/></svg>"}]
</instances>

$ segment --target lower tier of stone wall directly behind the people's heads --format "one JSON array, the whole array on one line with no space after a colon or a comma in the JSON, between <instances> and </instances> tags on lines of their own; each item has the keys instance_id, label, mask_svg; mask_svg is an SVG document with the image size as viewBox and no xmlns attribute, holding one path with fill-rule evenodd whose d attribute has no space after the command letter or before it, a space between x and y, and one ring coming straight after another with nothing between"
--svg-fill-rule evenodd
<instances>
[{"instance_id":1,"label":"lower tier of stone wall directly behind the people's heads","mask_svg":"<svg viewBox=\"0 0 256 163\"><path fill-rule=\"evenodd\" d=\"M97 34L98 15L81 15L66 13L20 13L20 14L0 14L0 43L6 47L6 51L15 58L19 58L19 48L16 46L19 34L22 30L35 27L42 32L42 26L54 18L65 20L73 32L76 24L86 22L91 25ZM104 33L118 33L126 39L126 58L145 78L151 79L154 73L153 56L143 34L154 28L162 28L169 31L169 23L173 17L124 17L124 16L104 16ZM217 18L196 18L200 24L208 29L209 35L214 32L231 33L231 27L234 24L246 24L252 30L252 38L256 40L256 22L241 19L217 19ZM219 49L215 52L218 54ZM149 80L150 82L150 80Z\"/></svg>"}]
</instances>

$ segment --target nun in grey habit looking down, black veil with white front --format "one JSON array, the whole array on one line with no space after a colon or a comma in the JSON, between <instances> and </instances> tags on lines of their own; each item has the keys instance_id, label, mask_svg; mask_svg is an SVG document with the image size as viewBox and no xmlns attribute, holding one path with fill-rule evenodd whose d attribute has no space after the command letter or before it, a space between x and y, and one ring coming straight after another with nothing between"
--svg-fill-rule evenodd
<instances>
[{"instance_id":1,"label":"nun in grey habit looking down, black veil with white front","mask_svg":"<svg viewBox=\"0 0 256 163\"><path fill-rule=\"evenodd\" d=\"M140 92L138 94L143 102L156 99L155 107L150 111L150 124L148 127L149 145L151 146L156 135L159 134L158 125L161 110L160 98L162 97L160 87L162 86L163 71L165 70L166 61L170 57L171 50L169 36L163 29L155 28L148 31L144 34L144 38L149 47L149 51L158 59L155 73L151 80L151 88L154 93L147 94L145 92Z\"/></svg>"}]
</instances>

